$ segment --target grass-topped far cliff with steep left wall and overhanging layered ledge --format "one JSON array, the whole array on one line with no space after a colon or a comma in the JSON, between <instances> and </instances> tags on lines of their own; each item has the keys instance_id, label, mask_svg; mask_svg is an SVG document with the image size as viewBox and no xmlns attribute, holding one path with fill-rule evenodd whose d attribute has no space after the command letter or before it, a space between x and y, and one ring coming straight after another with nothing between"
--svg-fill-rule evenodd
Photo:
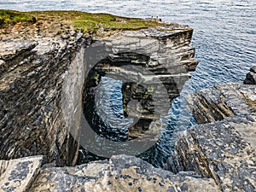
<instances>
[{"instance_id":1,"label":"grass-topped far cliff with steep left wall and overhanging layered ledge","mask_svg":"<svg viewBox=\"0 0 256 192\"><path fill-rule=\"evenodd\" d=\"M178 96L189 71L197 65L189 26L72 11L1 10L1 15L2 160L44 154L44 163L76 164L84 81L97 63L102 64L97 65L102 73L113 70L130 77L135 87L137 82L160 79L158 84L154 82L154 89L159 84L166 86L164 102ZM106 60L112 63L103 62ZM120 62L139 67L139 71L113 65ZM124 90L124 101L137 94L129 91ZM142 115L152 120L154 113L149 108Z\"/></svg>"}]
</instances>

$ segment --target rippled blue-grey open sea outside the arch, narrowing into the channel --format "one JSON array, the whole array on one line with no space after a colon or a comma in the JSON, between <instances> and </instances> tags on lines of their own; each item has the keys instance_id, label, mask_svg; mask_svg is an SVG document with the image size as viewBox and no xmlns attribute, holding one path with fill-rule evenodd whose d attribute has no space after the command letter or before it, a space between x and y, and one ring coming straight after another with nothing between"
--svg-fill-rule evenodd
<instances>
[{"instance_id":1,"label":"rippled blue-grey open sea outside the arch, narrowing into the channel","mask_svg":"<svg viewBox=\"0 0 256 192\"><path fill-rule=\"evenodd\" d=\"M169 115L164 118L160 141L142 155L155 166L161 166L172 151L175 133L195 124L184 98L213 84L242 81L256 61L256 1L1 0L0 9L74 9L142 18L159 16L164 21L194 28L192 44L200 63L185 84L181 96L172 102Z\"/></svg>"}]
</instances>

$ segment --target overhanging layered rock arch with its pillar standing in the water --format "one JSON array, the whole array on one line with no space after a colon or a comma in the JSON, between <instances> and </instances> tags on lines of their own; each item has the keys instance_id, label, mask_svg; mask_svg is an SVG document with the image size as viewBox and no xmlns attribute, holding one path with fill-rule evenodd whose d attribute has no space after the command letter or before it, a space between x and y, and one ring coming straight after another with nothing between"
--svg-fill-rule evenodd
<instances>
[{"instance_id":1,"label":"overhanging layered rock arch with its pillar standing in the water","mask_svg":"<svg viewBox=\"0 0 256 192\"><path fill-rule=\"evenodd\" d=\"M96 56L102 60L90 71L84 108L95 101L90 90L96 90L102 76L122 80L125 117L138 119L129 127L128 139L155 134L155 127L149 128L151 122L168 113L168 103L179 96L198 63L190 45L192 32L189 26L159 26L102 38L104 46L97 49L108 55ZM134 106L129 107L132 102Z\"/></svg>"}]
</instances>

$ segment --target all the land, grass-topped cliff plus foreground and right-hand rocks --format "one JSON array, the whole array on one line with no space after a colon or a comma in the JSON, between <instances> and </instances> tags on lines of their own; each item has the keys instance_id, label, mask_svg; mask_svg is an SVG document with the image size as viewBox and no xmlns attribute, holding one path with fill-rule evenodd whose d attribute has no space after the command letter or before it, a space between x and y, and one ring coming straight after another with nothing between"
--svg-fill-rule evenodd
<instances>
[{"instance_id":1,"label":"all the land, grass-topped cliff plus foreground and right-hand rocks","mask_svg":"<svg viewBox=\"0 0 256 192\"><path fill-rule=\"evenodd\" d=\"M144 90L124 84L124 111L131 99L145 98L143 111L130 115L155 120L145 90L157 90L160 82L167 102L178 96L197 65L193 29L81 12L1 16L0 191L255 191L255 67L245 84L217 84L195 93L199 125L180 132L166 170L124 154L75 166L83 143L84 82L94 90L102 74L113 72L149 79L154 84ZM136 70L127 71L120 61ZM93 67L97 75L85 79ZM138 125L129 137L144 131Z\"/></svg>"}]
</instances>

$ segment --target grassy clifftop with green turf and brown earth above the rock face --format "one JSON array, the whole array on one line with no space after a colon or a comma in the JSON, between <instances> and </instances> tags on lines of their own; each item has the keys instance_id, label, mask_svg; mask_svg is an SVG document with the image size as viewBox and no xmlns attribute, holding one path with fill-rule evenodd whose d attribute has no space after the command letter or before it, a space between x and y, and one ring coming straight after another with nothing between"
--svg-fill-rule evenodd
<instances>
[{"instance_id":1,"label":"grassy clifftop with green turf and brown earth above the rock face","mask_svg":"<svg viewBox=\"0 0 256 192\"><path fill-rule=\"evenodd\" d=\"M158 20L143 20L109 14L90 14L81 11L18 12L0 9L0 33L60 34L69 30L83 30L97 36L119 30L137 30L161 26ZM42 35L42 34L41 34Z\"/></svg>"}]
</instances>

